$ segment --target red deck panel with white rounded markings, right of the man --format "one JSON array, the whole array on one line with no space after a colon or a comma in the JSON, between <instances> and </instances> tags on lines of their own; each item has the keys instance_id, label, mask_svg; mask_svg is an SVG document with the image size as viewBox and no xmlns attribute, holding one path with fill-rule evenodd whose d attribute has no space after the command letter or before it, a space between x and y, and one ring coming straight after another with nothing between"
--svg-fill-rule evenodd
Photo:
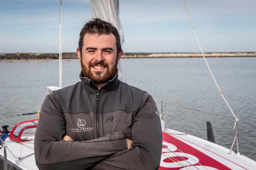
<instances>
[{"instance_id":1,"label":"red deck panel with white rounded markings, right of the man","mask_svg":"<svg viewBox=\"0 0 256 170\"><path fill-rule=\"evenodd\" d=\"M203 152L196 150L195 148L165 132L163 132L163 142L164 141L167 142L167 144L163 144L163 155L159 170L178 170L184 167L185 169L230 169ZM168 149L165 149L166 146ZM183 159L176 159L177 156L183 157Z\"/></svg>"}]
</instances>

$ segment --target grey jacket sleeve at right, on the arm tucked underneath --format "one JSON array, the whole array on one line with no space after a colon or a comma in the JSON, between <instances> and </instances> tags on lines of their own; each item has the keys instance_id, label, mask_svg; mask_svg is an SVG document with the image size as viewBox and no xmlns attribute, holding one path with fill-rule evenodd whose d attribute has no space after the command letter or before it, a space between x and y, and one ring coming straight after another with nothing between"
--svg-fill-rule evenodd
<instances>
[{"instance_id":1,"label":"grey jacket sleeve at right, on the arm tucked underneath","mask_svg":"<svg viewBox=\"0 0 256 170\"><path fill-rule=\"evenodd\" d=\"M162 129L155 101L144 93L142 108L132 124L132 148L117 152L94 166L97 169L147 169L160 165L162 153Z\"/></svg>"}]
</instances>

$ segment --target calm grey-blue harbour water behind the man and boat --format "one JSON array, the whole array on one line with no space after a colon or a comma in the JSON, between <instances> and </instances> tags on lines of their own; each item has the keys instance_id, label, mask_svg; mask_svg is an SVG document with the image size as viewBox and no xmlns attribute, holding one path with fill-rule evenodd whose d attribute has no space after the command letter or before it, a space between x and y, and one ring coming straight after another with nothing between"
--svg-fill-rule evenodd
<instances>
[{"instance_id":1,"label":"calm grey-blue harbour water behind the man and boat","mask_svg":"<svg viewBox=\"0 0 256 170\"><path fill-rule=\"evenodd\" d=\"M234 118L222 100L203 58L122 59L123 81L149 92L161 110L166 127L202 137L206 121L216 143L230 148ZM219 86L239 121L240 152L256 160L256 58L209 58ZM63 60L63 86L79 81L78 59ZM10 129L36 115L47 95L46 86L59 85L58 60L0 63L0 126ZM234 146L236 151L236 145Z\"/></svg>"}]
</instances>

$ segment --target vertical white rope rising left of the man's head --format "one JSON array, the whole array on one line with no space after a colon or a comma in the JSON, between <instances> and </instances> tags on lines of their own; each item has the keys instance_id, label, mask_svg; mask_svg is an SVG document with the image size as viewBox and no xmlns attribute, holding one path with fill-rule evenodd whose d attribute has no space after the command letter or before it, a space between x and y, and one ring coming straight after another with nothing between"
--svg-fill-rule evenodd
<instances>
[{"instance_id":1,"label":"vertical white rope rising left of the man's head","mask_svg":"<svg viewBox=\"0 0 256 170\"><path fill-rule=\"evenodd\" d=\"M62 52L61 52L61 8L62 8L62 2L60 0L60 34L59 34L59 87L61 88L61 81L62 81Z\"/></svg>"}]
</instances>

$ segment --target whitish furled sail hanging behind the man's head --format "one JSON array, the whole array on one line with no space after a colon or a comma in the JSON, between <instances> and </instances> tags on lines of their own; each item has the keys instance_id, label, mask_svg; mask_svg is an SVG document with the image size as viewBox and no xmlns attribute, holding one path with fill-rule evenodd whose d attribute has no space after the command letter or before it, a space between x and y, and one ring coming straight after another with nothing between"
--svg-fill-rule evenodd
<instances>
[{"instance_id":1,"label":"whitish furled sail hanging behind the man's head","mask_svg":"<svg viewBox=\"0 0 256 170\"><path fill-rule=\"evenodd\" d=\"M121 45L124 43L123 28L119 19L119 1L118 0L91 0L92 18L100 18L112 23L120 34ZM122 80L121 62L118 63L118 78Z\"/></svg>"}]
</instances>

